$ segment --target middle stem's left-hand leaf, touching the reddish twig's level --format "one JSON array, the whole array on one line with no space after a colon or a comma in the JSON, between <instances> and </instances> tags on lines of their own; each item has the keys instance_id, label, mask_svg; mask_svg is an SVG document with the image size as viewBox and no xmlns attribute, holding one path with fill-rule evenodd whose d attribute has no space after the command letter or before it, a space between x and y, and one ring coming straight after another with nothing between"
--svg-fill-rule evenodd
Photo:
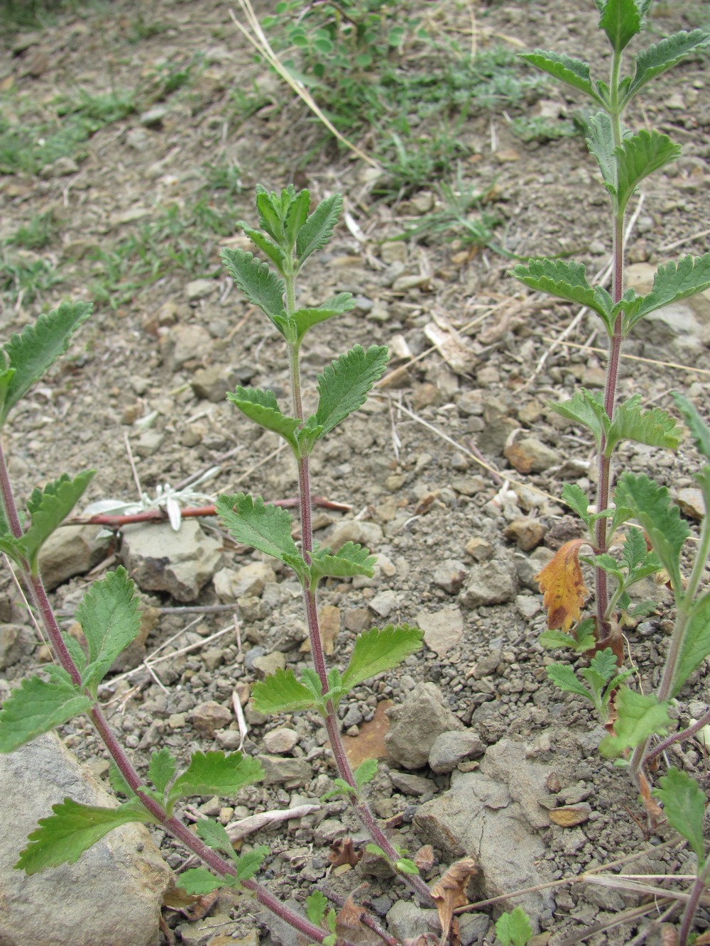
<instances>
[{"instance_id":1,"label":"middle stem's left-hand leaf, touching the reddish twig's level","mask_svg":"<svg viewBox=\"0 0 710 946\"><path fill-rule=\"evenodd\" d=\"M238 542L284 563L300 559L291 537L292 518L285 509L244 493L218 497L216 508L222 525Z\"/></svg>"}]
</instances>

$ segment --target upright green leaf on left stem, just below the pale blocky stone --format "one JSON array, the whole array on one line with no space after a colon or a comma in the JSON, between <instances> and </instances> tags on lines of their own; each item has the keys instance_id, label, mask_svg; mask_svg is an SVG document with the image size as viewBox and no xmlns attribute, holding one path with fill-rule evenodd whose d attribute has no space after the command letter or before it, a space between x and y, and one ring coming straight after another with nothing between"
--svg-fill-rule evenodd
<instances>
[{"instance_id":1,"label":"upright green leaf on left stem, just below the pale blocky stone","mask_svg":"<svg viewBox=\"0 0 710 946\"><path fill-rule=\"evenodd\" d=\"M89 648L82 674L93 689L108 673L118 655L140 632L140 610L135 586L124 568L109 571L89 588L77 608L76 619Z\"/></svg>"}]
</instances>

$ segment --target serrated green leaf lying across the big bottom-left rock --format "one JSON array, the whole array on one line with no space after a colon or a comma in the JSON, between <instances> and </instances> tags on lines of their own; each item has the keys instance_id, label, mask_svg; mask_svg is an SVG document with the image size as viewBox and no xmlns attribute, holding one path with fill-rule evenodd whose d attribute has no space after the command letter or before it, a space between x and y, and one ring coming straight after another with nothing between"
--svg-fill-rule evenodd
<instances>
[{"instance_id":1,"label":"serrated green leaf lying across the big bottom-left rock","mask_svg":"<svg viewBox=\"0 0 710 946\"><path fill-rule=\"evenodd\" d=\"M16 869L36 874L44 867L74 864L85 850L119 825L152 820L142 806L132 801L118 808L99 808L64 798L52 805L52 811L54 815L40 818L38 827L27 836L29 843L13 865Z\"/></svg>"}]
</instances>

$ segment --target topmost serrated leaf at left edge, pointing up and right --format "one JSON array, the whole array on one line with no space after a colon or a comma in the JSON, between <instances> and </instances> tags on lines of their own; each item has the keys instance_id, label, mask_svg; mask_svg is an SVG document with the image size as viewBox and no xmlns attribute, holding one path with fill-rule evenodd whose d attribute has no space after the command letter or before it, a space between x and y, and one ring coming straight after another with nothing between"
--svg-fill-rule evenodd
<instances>
[{"instance_id":1,"label":"topmost serrated leaf at left edge, pointing up and right","mask_svg":"<svg viewBox=\"0 0 710 946\"><path fill-rule=\"evenodd\" d=\"M27 394L49 366L65 352L74 332L91 315L88 303L63 302L27 325L20 335L12 335L5 345L3 384L0 385L0 427L10 408ZM10 369L11 374L6 370Z\"/></svg>"}]
</instances>

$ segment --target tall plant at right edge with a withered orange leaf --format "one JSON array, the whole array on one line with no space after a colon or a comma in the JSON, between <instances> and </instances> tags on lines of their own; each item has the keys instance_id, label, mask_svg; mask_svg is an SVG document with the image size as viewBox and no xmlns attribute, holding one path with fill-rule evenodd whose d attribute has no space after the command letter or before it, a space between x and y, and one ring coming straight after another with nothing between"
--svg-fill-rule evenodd
<instances>
[{"instance_id":1,"label":"tall plant at right edge with a withered orange leaf","mask_svg":"<svg viewBox=\"0 0 710 946\"><path fill-rule=\"evenodd\" d=\"M710 655L710 592L701 590L710 554L710 430L690 402L675 395L676 406L701 454L701 471L696 479L706 511L690 574L683 578L681 555L689 529L666 487L644 474L624 472L612 489L612 458L620 442L630 440L649 447L674 449L682 429L665 411L644 410L637 395L617 402L617 376L622 344L635 325L651 312L710 286L710 254L685 256L678 263L659 267L653 288L645 296L624 289L624 219L629 202L638 184L674 161L681 149L660 131L630 131L624 127L622 115L631 99L646 89L651 79L701 50L710 43L710 34L694 29L649 45L636 54L633 72L625 75L623 52L644 26L650 0L595 3L599 26L612 46L608 82L593 82L586 62L563 54L536 49L523 57L559 82L582 92L597 109L589 119L587 144L598 162L612 204L612 293L601 286L590 286L584 267L576 263L531 259L526 266L516 266L512 274L531 289L589 307L601 320L609 338L604 392L581 389L569 400L552 405L561 416L591 431L598 456L598 485L595 512L589 512L589 500L579 486L565 484L562 488L563 501L581 517L587 534L563 545L538 576L550 628L542 636L542 643L553 647L571 643L578 653L596 649L590 667L581 672L584 683L570 667L561 664L552 665L549 675L562 690L591 701L602 722L612 730L602 740L602 754L625 757L621 761L630 766L631 776L652 811L648 763L660 748L649 751L649 741L666 732L670 725L668 701ZM639 523L641 529L628 526L630 520ZM624 544L617 558L612 553L612 537L622 527ZM579 564L583 546L593 550L595 614L580 620L588 594ZM644 694L625 682L630 671L619 670L624 657L622 622L638 615L630 606L629 588L660 569L665 569L668 576L676 619L661 683L655 693ZM704 718L698 727L706 722ZM661 748L685 738L690 731L675 734ZM669 768L659 784L653 794L663 801L668 821L683 834L698 857L697 881L691 889L679 935L681 946L685 946L701 891L710 876L701 830L704 797L690 776L675 768Z\"/></svg>"}]
</instances>

